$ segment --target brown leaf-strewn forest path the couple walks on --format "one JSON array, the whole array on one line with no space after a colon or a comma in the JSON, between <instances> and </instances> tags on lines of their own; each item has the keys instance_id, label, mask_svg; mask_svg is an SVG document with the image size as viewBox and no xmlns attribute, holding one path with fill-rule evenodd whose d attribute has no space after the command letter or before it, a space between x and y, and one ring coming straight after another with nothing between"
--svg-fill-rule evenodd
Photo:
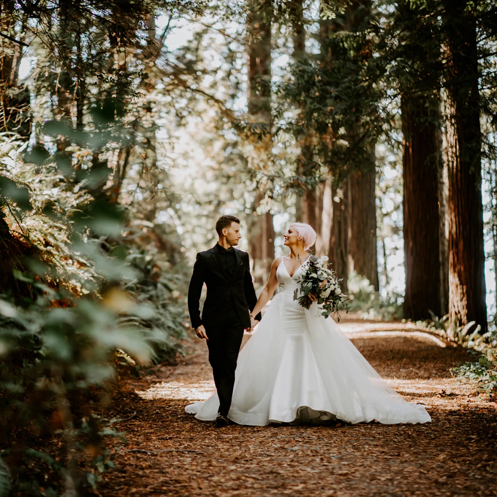
<instances>
[{"instance_id":1,"label":"brown leaf-strewn forest path the couple walks on","mask_svg":"<svg viewBox=\"0 0 497 497\"><path fill-rule=\"evenodd\" d=\"M128 443L111 450L116 467L100 495L496 496L497 404L451 376L464 350L421 333L343 328L431 423L216 429L184 411L214 386L207 347L193 339L177 365L126 380L113 414Z\"/></svg>"}]
</instances>

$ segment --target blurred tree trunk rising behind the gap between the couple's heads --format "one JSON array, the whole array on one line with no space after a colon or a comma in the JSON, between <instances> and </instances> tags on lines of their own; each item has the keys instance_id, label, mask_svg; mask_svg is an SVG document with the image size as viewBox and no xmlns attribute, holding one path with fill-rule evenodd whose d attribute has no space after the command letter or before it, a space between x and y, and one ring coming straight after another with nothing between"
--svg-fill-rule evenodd
<instances>
[{"instance_id":1,"label":"blurred tree trunk rising behind the gap between the couple's heads","mask_svg":"<svg viewBox=\"0 0 497 497\"><path fill-rule=\"evenodd\" d=\"M248 114L262 133L262 148L271 147L271 9L263 0L249 3L248 29ZM259 206L258 193L253 211ZM274 259L273 216L269 212L255 216L249 227L250 256L256 280L269 276ZM260 270L259 270L260 269Z\"/></svg>"}]
</instances>

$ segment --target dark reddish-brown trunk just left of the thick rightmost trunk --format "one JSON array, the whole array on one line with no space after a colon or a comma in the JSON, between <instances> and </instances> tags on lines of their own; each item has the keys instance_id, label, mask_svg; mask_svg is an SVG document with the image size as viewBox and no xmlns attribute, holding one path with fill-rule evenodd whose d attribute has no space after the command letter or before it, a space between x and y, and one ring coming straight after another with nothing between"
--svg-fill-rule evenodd
<instances>
[{"instance_id":1,"label":"dark reddish-brown trunk just left of the thick rightmost trunk","mask_svg":"<svg viewBox=\"0 0 497 497\"><path fill-rule=\"evenodd\" d=\"M404 317L414 320L441 309L436 122L424 95L403 96Z\"/></svg>"}]
</instances>

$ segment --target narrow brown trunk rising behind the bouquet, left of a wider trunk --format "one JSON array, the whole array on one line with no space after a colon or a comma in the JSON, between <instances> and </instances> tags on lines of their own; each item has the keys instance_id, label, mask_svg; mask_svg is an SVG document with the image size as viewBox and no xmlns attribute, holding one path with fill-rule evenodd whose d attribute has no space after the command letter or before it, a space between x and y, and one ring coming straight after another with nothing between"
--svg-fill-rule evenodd
<instances>
[{"instance_id":1,"label":"narrow brown trunk rising behind the bouquet, left of a wider trunk","mask_svg":"<svg viewBox=\"0 0 497 497\"><path fill-rule=\"evenodd\" d=\"M330 258L331 269L342 279L342 291L348 293L348 224L349 224L349 179L343 180L339 188L332 188L333 219L331 225Z\"/></svg>"}]
</instances>

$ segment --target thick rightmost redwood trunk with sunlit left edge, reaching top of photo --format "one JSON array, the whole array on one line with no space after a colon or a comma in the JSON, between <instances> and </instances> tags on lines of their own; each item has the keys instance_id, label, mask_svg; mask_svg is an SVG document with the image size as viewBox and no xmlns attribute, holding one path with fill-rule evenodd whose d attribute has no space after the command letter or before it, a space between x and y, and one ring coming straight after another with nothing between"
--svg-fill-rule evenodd
<instances>
[{"instance_id":1,"label":"thick rightmost redwood trunk with sunlit left edge, reaching top of photo","mask_svg":"<svg viewBox=\"0 0 497 497\"><path fill-rule=\"evenodd\" d=\"M472 3L472 2L471 2ZM477 25L469 1L444 0L449 122L449 326L487 331Z\"/></svg>"}]
</instances>

